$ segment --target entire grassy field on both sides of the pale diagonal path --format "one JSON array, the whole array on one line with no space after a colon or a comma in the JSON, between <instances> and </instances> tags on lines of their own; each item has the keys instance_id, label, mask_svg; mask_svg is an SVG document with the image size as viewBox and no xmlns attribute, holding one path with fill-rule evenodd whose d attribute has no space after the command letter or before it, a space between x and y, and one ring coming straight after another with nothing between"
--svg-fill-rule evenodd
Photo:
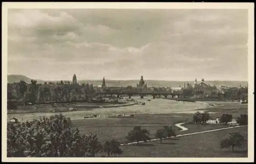
<instances>
[{"instance_id":1,"label":"entire grassy field on both sides of the pale diagonal path","mask_svg":"<svg viewBox=\"0 0 256 164\"><path fill-rule=\"evenodd\" d=\"M211 102L212 103L212 102ZM208 109L212 118L220 117L224 113L233 115L247 114L247 104L218 103ZM193 114L140 114L134 118L97 118L73 120L72 127L78 128L81 133L96 133L100 142L116 139L126 143L125 136L134 126L150 131L150 138L155 139L157 129L165 125L172 125L176 134L185 134L212 129L230 127L229 125L196 125L183 124L188 128L180 131L176 123L193 121ZM246 157L247 148L231 152L229 149L220 149L220 141L229 136L229 132L241 131L247 139L247 127L225 129L214 132L181 136L177 140L164 140L142 143L139 145L121 146L123 154L120 157ZM106 155L106 154L99 154Z\"/></svg>"}]
</instances>

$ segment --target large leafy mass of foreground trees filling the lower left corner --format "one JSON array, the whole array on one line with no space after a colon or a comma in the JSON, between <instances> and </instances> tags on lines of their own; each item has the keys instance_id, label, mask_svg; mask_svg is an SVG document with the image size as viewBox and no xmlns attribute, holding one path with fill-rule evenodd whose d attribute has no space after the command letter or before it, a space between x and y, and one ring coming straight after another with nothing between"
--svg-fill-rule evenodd
<instances>
[{"instance_id":1,"label":"large leafy mass of foreground trees filling the lower left corner","mask_svg":"<svg viewBox=\"0 0 256 164\"><path fill-rule=\"evenodd\" d=\"M80 135L61 114L7 125L8 157L90 157L102 150L95 134Z\"/></svg>"}]
</instances>

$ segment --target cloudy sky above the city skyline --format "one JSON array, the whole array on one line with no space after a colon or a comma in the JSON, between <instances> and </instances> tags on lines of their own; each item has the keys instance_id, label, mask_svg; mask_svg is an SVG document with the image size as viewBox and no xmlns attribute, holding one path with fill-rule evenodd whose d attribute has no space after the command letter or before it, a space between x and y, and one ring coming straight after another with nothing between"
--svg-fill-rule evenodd
<instances>
[{"instance_id":1,"label":"cloudy sky above the city skyline","mask_svg":"<svg viewBox=\"0 0 256 164\"><path fill-rule=\"evenodd\" d=\"M247 10L8 10L8 74L247 80Z\"/></svg>"}]
</instances>

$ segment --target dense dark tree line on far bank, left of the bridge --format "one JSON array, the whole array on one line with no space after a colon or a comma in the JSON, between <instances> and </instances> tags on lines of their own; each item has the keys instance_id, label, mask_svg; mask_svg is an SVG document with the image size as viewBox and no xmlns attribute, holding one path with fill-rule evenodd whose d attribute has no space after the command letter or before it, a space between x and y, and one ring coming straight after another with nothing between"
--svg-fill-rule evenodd
<instances>
[{"instance_id":1,"label":"dense dark tree line on far bank, left of the bridge","mask_svg":"<svg viewBox=\"0 0 256 164\"><path fill-rule=\"evenodd\" d=\"M72 85L70 83L44 83L37 84L31 80L30 84L20 81L8 84L7 99L16 99L21 102L76 102L94 97L96 88L91 84Z\"/></svg>"}]
</instances>

